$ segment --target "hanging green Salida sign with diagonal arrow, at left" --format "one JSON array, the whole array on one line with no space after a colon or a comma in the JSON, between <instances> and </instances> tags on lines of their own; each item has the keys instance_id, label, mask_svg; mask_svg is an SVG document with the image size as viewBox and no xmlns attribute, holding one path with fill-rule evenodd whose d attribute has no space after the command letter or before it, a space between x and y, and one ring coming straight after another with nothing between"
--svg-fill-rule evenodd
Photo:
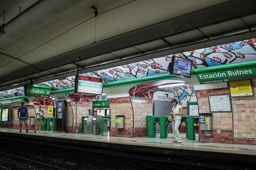
<instances>
[{"instance_id":1,"label":"hanging green Salida sign with diagonal arrow, at left","mask_svg":"<svg viewBox=\"0 0 256 170\"><path fill-rule=\"evenodd\" d=\"M38 86L38 85L25 85L24 90L25 90L25 96L49 98L52 87Z\"/></svg>"}]
</instances>

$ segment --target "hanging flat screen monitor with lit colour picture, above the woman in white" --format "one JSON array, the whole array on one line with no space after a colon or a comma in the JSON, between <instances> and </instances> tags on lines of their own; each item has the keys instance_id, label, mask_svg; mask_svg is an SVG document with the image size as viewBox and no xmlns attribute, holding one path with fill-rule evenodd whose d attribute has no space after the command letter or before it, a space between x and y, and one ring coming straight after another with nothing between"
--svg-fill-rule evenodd
<instances>
[{"instance_id":1,"label":"hanging flat screen monitor with lit colour picture, above the woman in white","mask_svg":"<svg viewBox=\"0 0 256 170\"><path fill-rule=\"evenodd\" d=\"M172 63L169 64L171 75L191 78L192 60L172 56Z\"/></svg>"}]
</instances>

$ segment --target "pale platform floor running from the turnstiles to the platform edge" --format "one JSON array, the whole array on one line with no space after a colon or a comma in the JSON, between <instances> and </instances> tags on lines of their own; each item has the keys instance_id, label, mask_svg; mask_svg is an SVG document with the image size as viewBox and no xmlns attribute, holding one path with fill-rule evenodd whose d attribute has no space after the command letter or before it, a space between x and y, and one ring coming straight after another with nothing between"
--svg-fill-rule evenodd
<instances>
[{"instance_id":1,"label":"pale platform floor running from the turnstiles to the platform edge","mask_svg":"<svg viewBox=\"0 0 256 170\"><path fill-rule=\"evenodd\" d=\"M136 145L136 146L151 146L151 147L161 147L161 148L256 155L256 145L198 142L198 134L196 134L195 141L189 141L186 139L186 136L185 136L186 134L181 133L182 143L178 144L178 143L172 143L173 141L172 133L168 133L168 137L166 139L160 139L159 134L157 134L155 138L148 138L148 137L127 138L127 137L112 137L112 136L109 136L108 134L104 134L102 136L102 135L85 135L81 133L78 133L78 134L56 133L52 131L41 131L41 133L34 133L33 131L29 131L29 133L26 133L25 131L23 131L22 133L19 133L19 130L16 130L16 129L0 129L0 132L39 135L43 137L75 139L75 140L82 140L82 141L118 143L118 144Z\"/></svg>"}]
</instances>

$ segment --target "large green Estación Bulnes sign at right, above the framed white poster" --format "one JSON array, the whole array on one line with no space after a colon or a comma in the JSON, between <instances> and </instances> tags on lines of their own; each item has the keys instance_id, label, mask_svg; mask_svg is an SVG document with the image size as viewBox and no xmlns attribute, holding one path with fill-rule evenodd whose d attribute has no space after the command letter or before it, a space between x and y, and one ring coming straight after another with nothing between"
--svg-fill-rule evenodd
<instances>
[{"instance_id":1,"label":"large green Estaci\u00f3n Bulnes sign at right, above the framed white poster","mask_svg":"<svg viewBox=\"0 0 256 170\"><path fill-rule=\"evenodd\" d=\"M248 66L228 70L208 71L196 74L200 84L230 82L251 79L256 76L256 67Z\"/></svg>"}]
</instances>

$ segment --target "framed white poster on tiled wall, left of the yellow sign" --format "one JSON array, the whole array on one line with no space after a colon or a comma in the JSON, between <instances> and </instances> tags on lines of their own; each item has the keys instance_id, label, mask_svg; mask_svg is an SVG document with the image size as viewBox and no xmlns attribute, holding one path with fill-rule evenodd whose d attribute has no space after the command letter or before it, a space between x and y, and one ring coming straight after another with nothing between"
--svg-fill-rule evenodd
<instances>
[{"instance_id":1,"label":"framed white poster on tiled wall, left of the yellow sign","mask_svg":"<svg viewBox=\"0 0 256 170\"><path fill-rule=\"evenodd\" d=\"M232 112L229 94L208 95L210 112Z\"/></svg>"}]
</instances>

